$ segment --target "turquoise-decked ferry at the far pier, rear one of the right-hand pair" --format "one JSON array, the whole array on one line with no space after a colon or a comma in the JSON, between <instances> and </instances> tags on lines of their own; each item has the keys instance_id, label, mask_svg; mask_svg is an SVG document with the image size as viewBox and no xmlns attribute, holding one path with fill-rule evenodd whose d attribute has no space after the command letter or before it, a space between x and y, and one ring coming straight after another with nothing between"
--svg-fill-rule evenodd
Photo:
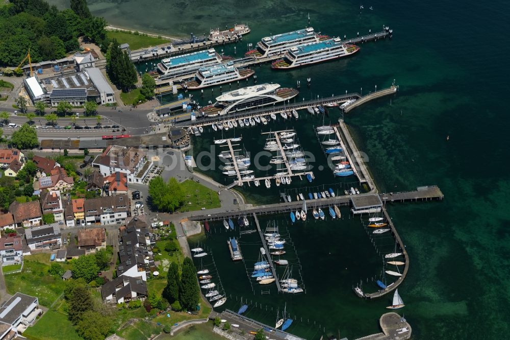
<instances>
[{"instance_id":1,"label":"turquoise-decked ferry at the far pier, rear one of the right-hand pair","mask_svg":"<svg viewBox=\"0 0 510 340\"><path fill-rule=\"evenodd\" d=\"M246 57L265 58L283 56L293 46L316 43L327 39L327 36L319 35L312 27L294 32L288 32L262 38L257 43L257 48L246 52Z\"/></svg>"}]
</instances>

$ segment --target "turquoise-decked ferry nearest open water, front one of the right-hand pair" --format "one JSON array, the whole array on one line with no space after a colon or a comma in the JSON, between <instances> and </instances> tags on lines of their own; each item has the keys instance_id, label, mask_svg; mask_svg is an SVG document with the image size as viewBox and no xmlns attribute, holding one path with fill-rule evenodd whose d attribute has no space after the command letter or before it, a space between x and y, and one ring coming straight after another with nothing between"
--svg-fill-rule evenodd
<instances>
[{"instance_id":1,"label":"turquoise-decked ferry nearest open water, front one of the right-hand pair","mask_svg":"<svg viewBox=\"0 0 510 340\"><path fill-rule=\"evenodd\" d=\"M340 38L291 47L283 59L271 64L272 68L292 68L320 63L354 54L360 50L356 45L344 44Z\"/></svg>"}]
</instances>

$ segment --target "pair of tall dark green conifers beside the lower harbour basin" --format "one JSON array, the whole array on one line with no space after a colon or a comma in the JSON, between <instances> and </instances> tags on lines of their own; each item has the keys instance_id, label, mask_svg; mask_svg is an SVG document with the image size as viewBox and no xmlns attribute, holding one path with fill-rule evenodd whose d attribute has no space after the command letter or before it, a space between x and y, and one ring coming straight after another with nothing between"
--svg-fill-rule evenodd
<instances>
[{"instance_id":1,"label":"pair of tall dark green conifers beside the lower harbour basin","mask_svg":"<svg viewBox=\"0 0 510 340\"><path fill-rule=\"evenodd\" d=\"M171 304L172 309L195 310L199 294L193 261L189 257L184 259L181 274L177 263L172 262L168 269L167 285L163 290L163 297Z\"/></svg>"}]
</instances>

